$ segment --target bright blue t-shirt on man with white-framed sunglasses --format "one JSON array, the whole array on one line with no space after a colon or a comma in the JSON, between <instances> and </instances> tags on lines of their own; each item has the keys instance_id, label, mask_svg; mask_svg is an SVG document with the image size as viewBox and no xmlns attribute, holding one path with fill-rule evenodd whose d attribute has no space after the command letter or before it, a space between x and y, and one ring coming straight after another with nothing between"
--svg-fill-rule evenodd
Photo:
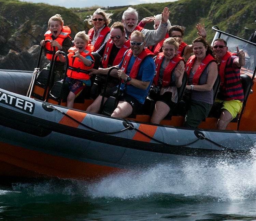
<instances>
[{"instance_id":1,"label":"bright blue t-shirt on man with white-framed sunglasses","mask_svg":"<svg viewBox=\"0 0 256 221\"><path fill-rule=\"evenodd\" d=\"M128 76L130 75L131 68L132 68L135 60L136 60L136 57L134 57L132 55L130 62L128 64L127 70L126 70L126 74ZM119 68L122 67L123 61L124 61L124 57L123 57L121 63L119 64ZM145 102L145 98L146 98L148 91L150 89L150 86L152 84L155 69L156 69L156 66L155 66L155 62L154 62L153 58L151 56L145 57L140 64L140 69L139 69L139 73L137 75L137 80L144 81L144 82L150 82L150 84L148 85L146 90L140 89L138 87L134 87L133 85L129 84L126 87L125 92L128 95L136 98L139 103L143 104ZM120 89L123 90L124 87L125 87L125 84L121 84Z\"/></svg>"}]
</instances>

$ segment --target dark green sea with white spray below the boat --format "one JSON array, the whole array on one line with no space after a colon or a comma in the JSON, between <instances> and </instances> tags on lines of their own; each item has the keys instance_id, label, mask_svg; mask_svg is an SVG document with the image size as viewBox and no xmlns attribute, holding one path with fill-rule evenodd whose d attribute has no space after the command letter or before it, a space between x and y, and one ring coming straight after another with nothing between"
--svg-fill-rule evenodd
<instances>
[{"instance_id":1,"label":"dark green sea with white spray below the boat","mask_svg":"<svg viewBox=\"0 0 256 221\"><path fill-rule=\"evenodd\" d=\"M256 157L155 165L89 182L1 179L2 220L256 220Z\"/></svg>"}]
</instances>

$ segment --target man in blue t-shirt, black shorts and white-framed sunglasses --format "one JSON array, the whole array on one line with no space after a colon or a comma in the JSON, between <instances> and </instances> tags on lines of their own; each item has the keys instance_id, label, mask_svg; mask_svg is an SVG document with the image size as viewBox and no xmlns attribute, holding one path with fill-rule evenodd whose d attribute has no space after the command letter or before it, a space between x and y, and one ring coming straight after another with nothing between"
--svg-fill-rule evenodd
<instances>
[{"instance_id":1,"label":"man in blue t-shirt, black shorts and white-framed sunglasses","mask_svg":"<svg viewBox=\"0 0 256 221\"><path fill-rule=\"evenodd\" d=\"M112 117L125 118L136 114L145 101L153 81L155 63L151 56L152 52L144 46L145 36L139 31L134 31L131 35L131 49L125 53L121 63L116 66L121 69L111 71L112 76L119 77L124 81L120 87L123 94L119 97ZM116 90L117 87L114 87L107 91L104 102ZM98 113L101 100L102 95L98 96L86 111Z\"/></svg>"}]
</instances>

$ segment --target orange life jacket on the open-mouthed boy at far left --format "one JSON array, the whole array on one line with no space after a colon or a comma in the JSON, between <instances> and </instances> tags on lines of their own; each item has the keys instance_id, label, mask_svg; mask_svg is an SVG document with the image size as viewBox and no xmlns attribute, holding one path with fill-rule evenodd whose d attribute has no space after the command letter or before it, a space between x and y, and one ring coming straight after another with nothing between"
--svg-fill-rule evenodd
<instances>
[{"instance_id":1,"label":"orange life jacket on the open-mouthed boy at far left","mask_svg":"<svg viewBox=\"0 0 256 221\"><path fill-rule=\"evenodd\" d=\"M71 33L70 28L67 27L67 26L63 26L62 29L61 29L60 34L58 35L58 37L55 40L58 41L58 43L62 46L62 43L63 43L65 38L69 37L71 39L71 37L69 36L70 33ZM45 32L45 34L44 34L45 40L53 40L52 35L53 34L50 30ZM48 60L52 60L53 47L51 46L51 44L49 42L45 43L45 49L46 49L46 58ZM58 50L59 49L57 47L55 47L55 52L58 51ZM59 61L59 58L57 58L57 61Z\"/></svg>"}]
</instances>

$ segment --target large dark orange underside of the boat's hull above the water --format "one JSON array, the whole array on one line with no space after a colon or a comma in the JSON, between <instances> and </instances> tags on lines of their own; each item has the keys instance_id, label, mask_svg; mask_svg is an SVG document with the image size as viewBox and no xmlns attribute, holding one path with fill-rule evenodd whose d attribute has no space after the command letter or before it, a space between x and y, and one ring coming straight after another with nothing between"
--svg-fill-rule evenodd
<instances>
[{"instance_id":1,"label":"large dark orange underside of the boat's hull above the water","mask_svg":"<svg viewBox=\"0 0 256 221\"><path fill-rule=\"evenodd\" d=\"M11 171L15 167L20 168L20 170L12 171L10 173L11 176L16 174L19 177L34 177L37 176L35 173L39 173L41 176L85 180L106 176L122 170L115 167L90 164L79 160L28 150L3 142L0 142L0 147L0 165L6 166L6 168L1 168L0 172ZM8 168L8 165L12 165L12 168ZM1 173L0 175L6 175L6 173Z\"/></svg>"}]
</instances>

